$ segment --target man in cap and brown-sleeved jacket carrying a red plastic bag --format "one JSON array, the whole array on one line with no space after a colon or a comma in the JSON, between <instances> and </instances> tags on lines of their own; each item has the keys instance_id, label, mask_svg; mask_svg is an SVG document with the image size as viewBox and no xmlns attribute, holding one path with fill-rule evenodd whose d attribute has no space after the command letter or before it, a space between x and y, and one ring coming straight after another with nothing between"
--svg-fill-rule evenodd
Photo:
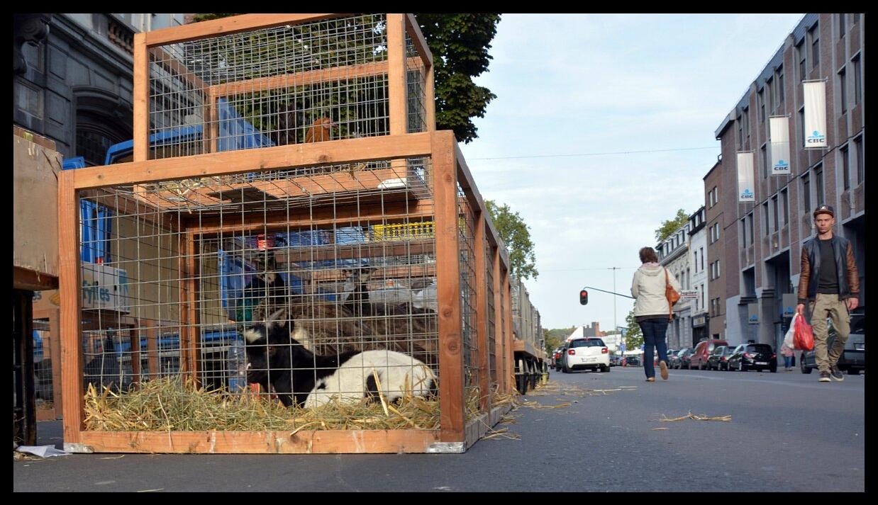
<instances>
[{"instance_id":1,"label":"man in cap and brown-sleeved jacket carrying a red plastic bag","mask_svg":"<svg viewBox=\"0 0 878 505\"><path fill-rule=\"evenodd\" d=\"M817 237L802 245L802 275L799 277L799 304L795 311L804 316L805 302L809 302L811 325L814 329L814 351L820 381L844 381L838 370L838 358L845 350L847 335L851 332L851 310L860 304L860 274L853 260L850 240L832 235L835 211L830 205L814 210ZM826 318L832 318L836 339L827 350L829 328Z\"/></svg>"}]
</instances>

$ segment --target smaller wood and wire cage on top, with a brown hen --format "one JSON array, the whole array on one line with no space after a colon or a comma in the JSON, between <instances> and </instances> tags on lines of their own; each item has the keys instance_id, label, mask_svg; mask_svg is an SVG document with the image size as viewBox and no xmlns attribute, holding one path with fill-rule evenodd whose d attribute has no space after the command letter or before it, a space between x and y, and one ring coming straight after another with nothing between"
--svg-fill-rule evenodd
<instances>
[{"instance_id":1,"label":"smaller wood and wire cage on top, with a brown hen","mask_svg":"<svg viewBox=\"0 0 878 505\"><path fill-rule=\"evenodd\" d=\"M135 161L435 130L411 15L205 21L139 33L134 65Z\"/></svg>"}]
</instances>

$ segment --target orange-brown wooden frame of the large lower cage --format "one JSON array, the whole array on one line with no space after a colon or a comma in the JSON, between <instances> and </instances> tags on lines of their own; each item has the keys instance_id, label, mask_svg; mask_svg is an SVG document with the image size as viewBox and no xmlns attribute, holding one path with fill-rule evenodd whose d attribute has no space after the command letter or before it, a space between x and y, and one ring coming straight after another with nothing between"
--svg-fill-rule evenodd
<instances>
[{"instance_id":1,"label":"orange-brown wooden frame of the large lower cage","mask_svg":"<svg viewBox=\"0 0 878 505\"><path fill-rule=\"evenodd\" d=\"M199 177L202 175L262 172L326 163L347 163L363 160L394 160L430 157L433 164L435 255L437 276L437 324L440 338L440 426L439 430L300 430L290 436L279 431L208 431L208 432L107 432L83 430L82 350L79 335L79 250L78 197L90 190L117 184L141 184ZM203 167L212 167L208 172ZM484 251L485 244L493 252L494 321L497 356L497 383L501 392L513 386L512 307L508 281L508 257L488 213L469 168L457 147L453 132L425 132L389 135L364 139L345 139L304 145L276 146L247 151L206 153L162 160L139 160L112 167L90 167L68 170L59 180L59 224L61 252L61 353L64 440L68 449L87 452L463 452L496 423L509 408L492 408L489 395L482 394L479 415L466 421L464 410L464 345L461 328L459 244L457 230L457 184L464 190L463 198L474 217L474 247ZM111 198L104 204L117 205ZM119 200L119 206L125 201ZM145 203L140 202L141 206ZM116 209L119 210L119 209ZM376 206L361 207L359 217L379 219L383 210ZM273 219L269 217L269 219ZM311 217L277 217L274 224L311 224ZM345 217L320 217L322 223L343 222ZM214 228L188 224L184 220L163 223L182 238L179 266L181 321L181 372L197 378L198 300L196 265L197 235L219 230L241 230L256 227L255 223L223 224ZM271 224L271 223L269 223ZM265 220L259 227L265 226ZM475 255L476 285L486 286L486 259ZM479 350L479 388L490 391L488 373L486 289L477 289L476 327ZM501 296L502 295L502 296ZM502 299L502 305L500 304ZM502 317L501 317L502 316ZM500 322L503 328L500 328ZM133 352L139 350L133 349Z\"/></svg>"}]
</instances>

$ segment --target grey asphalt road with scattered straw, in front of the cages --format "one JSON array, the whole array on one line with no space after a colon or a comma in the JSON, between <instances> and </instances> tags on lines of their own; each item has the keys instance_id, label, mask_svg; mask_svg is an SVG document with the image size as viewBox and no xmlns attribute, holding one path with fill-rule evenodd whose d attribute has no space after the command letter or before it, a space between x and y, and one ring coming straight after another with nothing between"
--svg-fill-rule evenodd
<instances>
[{"instance_id":1,"label":"grey asphalt road with scattered straw, in front of the cages","mask_svg":"<svg viewBox=\"0 0 878 505\"><path fill-rule=\"evenodd\" d=\"M864 491L866 377L643 368L551 373L464 454L76 454L14 462L15 491ZM610 391L611 389L625 389ZM632 388L634 387L634 388ZM604 390L603 393L594 390ZM731 416L730 422L668 418ZM60 444L60 422L40 444ZM665 428L664 430L656 430ZM59 445L60 446L60 445ZM115 458L115 459L109 459Z\"/></svg>"}]
</instances>

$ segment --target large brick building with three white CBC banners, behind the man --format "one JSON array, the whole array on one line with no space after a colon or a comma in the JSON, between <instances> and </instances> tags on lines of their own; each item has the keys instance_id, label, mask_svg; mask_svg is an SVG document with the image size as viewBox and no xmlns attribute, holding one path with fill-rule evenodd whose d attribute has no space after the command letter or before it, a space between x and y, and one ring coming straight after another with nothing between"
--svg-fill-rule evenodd
<instances>
[{"instance_id":1,"label":"large brick building with three white CBC banners, behind the man","mask_svg":"<svg viewBox=\"0 0 878 505\"><path fill-rule=\"evenodd\" d=\"M778 348L799 281L804 241L814 236L811 212L836 210L834 233L851 240L865 308L865 90L863 14L808 14L784 40L745 95L716 129L722 160L709 230L719 224L721 246L708 246L709 292L724 286L724 334L730 345L752 339ZM802 81L826 82L829 146L804 148ZM791 174L770 174L769 117L789 117ZM755 201L738 203L736 153L752 152ZM709 196L717 167L705 176ZM709 200L710 202L710 200ZM709 235L709 241L713 238ZM716 267L714 267L716 265ZM716 300L716 297L715 299ZM795 307L795 304L794 304ZM711 313L714 313L711 307ZM718 332L718 322L710 325Z\"/></svg>"}]
</instances>

